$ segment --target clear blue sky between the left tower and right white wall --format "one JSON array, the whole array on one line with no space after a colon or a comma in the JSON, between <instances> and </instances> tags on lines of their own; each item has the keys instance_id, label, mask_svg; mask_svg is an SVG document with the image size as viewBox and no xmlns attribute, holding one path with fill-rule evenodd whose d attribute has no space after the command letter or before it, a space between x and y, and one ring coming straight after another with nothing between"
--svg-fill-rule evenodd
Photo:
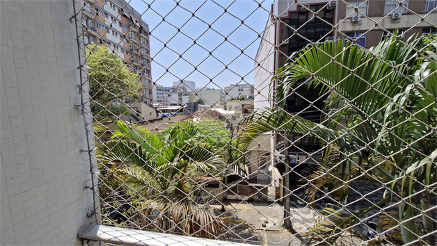
<instances>
[{"instance_id":1,"label":"clear blue sky between the left tower and right white wall","mask_svg":"<svg viewBox=\"0 0 437 246\"><path fill-rule=\"evenodd\" d=\"M171 86L177 79L186 79L195 81L198 88L253 83L258 34L264 31L272 2L182 0L177 6L170 0L130 1L143 13L152 34L152 80Z\"/></svg>"}]
</instances>

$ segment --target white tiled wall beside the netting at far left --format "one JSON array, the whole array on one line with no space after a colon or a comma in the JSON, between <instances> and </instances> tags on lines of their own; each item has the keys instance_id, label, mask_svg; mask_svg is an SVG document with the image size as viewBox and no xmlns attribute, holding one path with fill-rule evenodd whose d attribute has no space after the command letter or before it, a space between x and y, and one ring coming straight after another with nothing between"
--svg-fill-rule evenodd
<instances>
[{"instance_id":1,"label":"white tiled wall beside the netting at far left","mask_svg":"<svg viewBox=\"0 0 437 246\"><path fill-rule=\"evenodd\" d=\"M81 245L95 222L72 4L0 1L0 245Z\"/></svg>"}]
</instances>

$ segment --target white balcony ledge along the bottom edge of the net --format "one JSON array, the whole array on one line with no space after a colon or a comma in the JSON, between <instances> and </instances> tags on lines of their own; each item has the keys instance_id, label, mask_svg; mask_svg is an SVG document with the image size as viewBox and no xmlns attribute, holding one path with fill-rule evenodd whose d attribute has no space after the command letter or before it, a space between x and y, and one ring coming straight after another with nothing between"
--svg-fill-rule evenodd
<instances>
[{"instance_id":1,"label":"white balcony ledge along the bottom edge of the net","mask_svg":"<svg viewBox=\"0 0 437 246\"><path fill-rule=\"evenodd\" d=\"M90 224L77 235L85 240L102 241L117 245L141 246L250 246L246 243L233 243L205 238L193 238L152 231L141 231L119 227Z\"/></svg>"}]
</instances>

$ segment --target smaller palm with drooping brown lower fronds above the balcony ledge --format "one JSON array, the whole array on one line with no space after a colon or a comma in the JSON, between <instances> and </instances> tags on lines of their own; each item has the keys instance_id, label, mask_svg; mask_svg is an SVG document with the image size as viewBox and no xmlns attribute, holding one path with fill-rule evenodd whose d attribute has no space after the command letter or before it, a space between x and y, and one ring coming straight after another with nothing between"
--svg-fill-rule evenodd
<instances>
[{"instance_id":1,"label":"smaller palm with drooping brown lower fronds above the balcony ledge","mask_svg":"<svg viewBox=\"0 0 437 246\"><path fill-rule=\"evenodd\" d=\"M97 155L101 194L117 194L102 195L109 211L120 208L122 200L128 203L125 217L136 228L223 238L228 222L234 221L216 217L196 202L202 192L196 177L224 172L221 156L196 123L178 123L164 136L120 121L117 125Z\"/></svg>"}]
</instances>

